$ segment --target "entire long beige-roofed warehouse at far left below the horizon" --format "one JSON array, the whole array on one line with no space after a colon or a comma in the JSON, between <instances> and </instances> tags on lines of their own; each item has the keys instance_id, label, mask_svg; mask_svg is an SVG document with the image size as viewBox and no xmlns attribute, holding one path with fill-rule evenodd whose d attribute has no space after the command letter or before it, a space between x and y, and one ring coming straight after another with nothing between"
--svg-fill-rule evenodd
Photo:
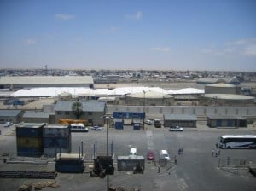
<instances>
[{"instance_id":1,"label":"entire long beige-roofed warehouse at far left below the horizon","mask_svg":"<svg viewBox=\"0 0 256 191\"><path fill-rule=\"evenodd\" d=\"M38 87L88 87L93 88L91 76L3 76L0 89L20 90Z\"/></svg>"}]
</instances>

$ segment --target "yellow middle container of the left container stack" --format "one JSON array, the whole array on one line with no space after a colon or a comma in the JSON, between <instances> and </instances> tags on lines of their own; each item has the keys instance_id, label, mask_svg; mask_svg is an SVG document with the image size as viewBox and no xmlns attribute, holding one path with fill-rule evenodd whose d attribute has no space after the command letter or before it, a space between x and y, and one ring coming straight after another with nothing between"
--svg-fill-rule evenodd
<instances>
[{"instance_id":1,"label":"yellow middle container of the left container stack","mask_svg":"<svg viewBox=\"0 0 256 191\"><path fill-rule=\"evenodd\" d=\"M17 147L43 148L43 138L40 137L17 137Z\"/></svg>"}]
</instances>

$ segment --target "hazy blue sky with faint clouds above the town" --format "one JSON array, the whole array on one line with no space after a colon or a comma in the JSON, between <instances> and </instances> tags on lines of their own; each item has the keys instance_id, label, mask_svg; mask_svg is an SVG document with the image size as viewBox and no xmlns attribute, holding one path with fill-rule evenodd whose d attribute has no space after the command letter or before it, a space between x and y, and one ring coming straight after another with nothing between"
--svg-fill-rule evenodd
<instances>
[{"instance_id":1,"label":"hazy blue sky with faint clouds above the town","mask_svg":"<svg viewBox=\"0 0 256 191\"><path fill-rule=\"evenodd\" d=\"M0 67L256 71L255 0L0 0Z\"/></svg>"}]
</instances>

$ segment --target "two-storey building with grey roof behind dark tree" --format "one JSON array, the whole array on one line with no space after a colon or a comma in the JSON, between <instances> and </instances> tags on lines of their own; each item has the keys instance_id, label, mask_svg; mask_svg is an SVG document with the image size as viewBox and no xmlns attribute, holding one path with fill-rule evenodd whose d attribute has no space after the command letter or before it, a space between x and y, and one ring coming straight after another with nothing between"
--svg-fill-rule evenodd
<instances>
[{"instance_id":1,"label":"two-storey building with grey roof behind dark tree","mask_svg":"<svg viewBox=\"0 0 256 191\"><path fill-rule=\"evenodd\" d=\"M77 101L57 101L55 105L55 123L60 119L77 119L73 113L73 104ZM106 103L101 101L79 101L82 113L79 119L85 119L89 125L102 125L102 116L106 113Z\"/></svg>"}]
</instances>

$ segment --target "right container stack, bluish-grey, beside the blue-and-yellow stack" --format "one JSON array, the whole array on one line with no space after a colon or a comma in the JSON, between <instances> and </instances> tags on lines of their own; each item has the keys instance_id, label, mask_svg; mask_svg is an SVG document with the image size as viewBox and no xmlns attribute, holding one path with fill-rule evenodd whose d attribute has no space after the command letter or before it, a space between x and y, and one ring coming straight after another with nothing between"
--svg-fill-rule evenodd
<instances>
[{"instance_id":1,"label":"right container stack, bluish-grey, beside the blue-and-yellow stack","mask_svg":"<svg viewBox=\"0 0 256 191\"><path fill-rule=\"evenodd\" d=\"M64 125L46 125L43 129L44 156L71 152L70 128Z\"/></svg>"}]
</instances>

